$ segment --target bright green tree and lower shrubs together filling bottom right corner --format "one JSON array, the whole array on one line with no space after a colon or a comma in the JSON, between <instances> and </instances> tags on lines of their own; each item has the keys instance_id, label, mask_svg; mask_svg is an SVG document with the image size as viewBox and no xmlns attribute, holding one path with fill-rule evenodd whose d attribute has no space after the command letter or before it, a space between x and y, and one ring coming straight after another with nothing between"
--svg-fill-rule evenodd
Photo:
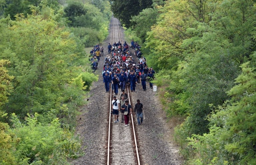
<instances>
[{"instance_id":1,"label":"bright green tree and lower shrubs together filling bottom right corner","mask_svg":"<svg viewBox=\"0 0 256 165\"><path fill-rule=\"evenodd\" d=\"M255 93L256 72L249 62L242 64L242 74L236 78L238 85L228 94L230 104L215 108L209 116L210 132L188 138L194 153L191 164L207 165L255 164Z\"/></svg>"}]
</instances>

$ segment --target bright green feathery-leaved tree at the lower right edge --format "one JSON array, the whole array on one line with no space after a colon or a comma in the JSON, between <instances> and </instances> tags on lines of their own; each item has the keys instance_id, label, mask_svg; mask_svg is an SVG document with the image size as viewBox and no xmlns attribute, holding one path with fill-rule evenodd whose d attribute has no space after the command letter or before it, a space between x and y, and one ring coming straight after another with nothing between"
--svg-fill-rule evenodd
<instances>
[{"instance_id":1,"label":"bright green feathery-leaved tree at the lower right edge","mask_svg":"<svg viewBox=\"0 0 256 165\"><path fill-rule=\"evenodd\" d=\"M225 149L238 155L241 164L256 162L255 148L255 108L256 108L256 72L255 67L248 67L249 62L241 65L242 74L236 78L238 85L234 86L228 94L232 96L232 106L228 111L219 112L227 116L226 131L222 133L221 140L227 144Z\"/></svg>"}]
</instances>

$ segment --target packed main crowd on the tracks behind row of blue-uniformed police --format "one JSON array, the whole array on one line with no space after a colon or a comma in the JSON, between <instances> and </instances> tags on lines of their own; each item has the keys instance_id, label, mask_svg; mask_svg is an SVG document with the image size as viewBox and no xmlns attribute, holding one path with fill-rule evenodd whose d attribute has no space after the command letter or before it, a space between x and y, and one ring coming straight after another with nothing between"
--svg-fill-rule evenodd
<instances>
[{"instance_id":1,"label":"packed main crowd on the tracks behind row of blue-uniformed police","mask_svg":"<svg viewBox=\"0 0 256 165\"><path fill-rule=\"evenodd\" d=\"M149 87L153 88L152 80L155 71L147 66L146 58L142 56L140 45L137 42L132 41L131 48L134 49L134 55L138 58L139 62L137 64L130 54L126 42L123 45L120 41L115 42L113 46L110 43L108 44L108 55L104 59L102 73L106 92L109 92L109 85L112 85L116 95L118 89L122 91L126 85L130 86L131 91L134 92L136 84L141 84L143 90L146 91L146 80L149 81Z\"/></svg>"}]
</instances>

